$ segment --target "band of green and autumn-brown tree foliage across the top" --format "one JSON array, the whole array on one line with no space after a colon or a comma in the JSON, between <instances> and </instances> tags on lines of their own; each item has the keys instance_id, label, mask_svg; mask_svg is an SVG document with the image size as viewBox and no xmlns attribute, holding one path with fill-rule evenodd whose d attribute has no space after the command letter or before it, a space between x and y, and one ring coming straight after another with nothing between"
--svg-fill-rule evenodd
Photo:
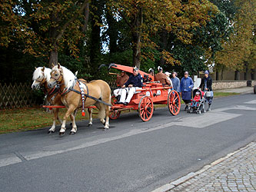
<instances>
[{"instance_id":1,"label":"band of green and autumn-brown tree foliage across the top","mask_svg":"<svg viewBox=\"0 0 256 192\"><path fill-rule=\"evenodd\" d=\"M57 62L88 80L106 80L98 66L111 62L191 74L255 68L250 0L3 0L0 8L4 82L30 81L34 67Z\"/></svg>"}]
</instances>

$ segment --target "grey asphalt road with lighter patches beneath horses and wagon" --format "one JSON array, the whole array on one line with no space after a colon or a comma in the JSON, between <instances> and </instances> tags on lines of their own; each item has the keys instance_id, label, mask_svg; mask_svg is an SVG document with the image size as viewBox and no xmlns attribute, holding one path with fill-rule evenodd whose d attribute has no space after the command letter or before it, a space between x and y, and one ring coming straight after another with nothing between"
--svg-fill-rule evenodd
<instances>
[{"instance_id":1,"label":"grey asphalt road with lighter patches beneath horses and wagon","mask_svg":"<svg viewBox=\"0 0 256 192\"><path fill-rule=\"evenodd\" d=\"M255 141L255 94L214 99L212 109L173 117L158 108L148 122L121 114L108 131L81 121L65 137L48 127L2 134L0 191L154 190Z\"/></svg>"}]
</instances>

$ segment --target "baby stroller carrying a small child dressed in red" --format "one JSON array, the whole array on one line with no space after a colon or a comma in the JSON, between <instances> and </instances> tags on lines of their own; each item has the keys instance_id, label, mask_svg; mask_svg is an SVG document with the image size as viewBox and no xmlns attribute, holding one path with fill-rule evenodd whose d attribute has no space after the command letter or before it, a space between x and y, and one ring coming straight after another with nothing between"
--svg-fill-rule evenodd
<instances>
[{"instance_id":1,"label":"baby stroller carrying a small child dressed in red","mask_svg":"<svg viewBox=\"0 0 256 192\"><path fill-rule=\"evenodd\" d=\"M204 91L200 89L194 89L193 91L193 99L191 99L191 104L188 107L188 113L205 113L204 109L205 105L205 95Z\"/></svg>"}]
</instances>

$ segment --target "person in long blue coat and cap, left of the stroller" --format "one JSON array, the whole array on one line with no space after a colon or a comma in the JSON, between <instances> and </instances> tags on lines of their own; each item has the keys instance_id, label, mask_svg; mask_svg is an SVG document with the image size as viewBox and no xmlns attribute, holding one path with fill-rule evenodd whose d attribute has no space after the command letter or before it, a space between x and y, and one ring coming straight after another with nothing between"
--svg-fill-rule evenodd
<instances>
[{"instance_id":1,"label":"person in long blue coat and cap, left of the stroller","mask_svg":"<svg viewBox=\"0 0 256 192\"><path fill-rule=\"evenodd\" d=\"M191 103L191 89L194 87L193 80L188 77L188 71L185 71L184 78L181 78L181 98L185 102L185 111L188 109L188 104Z\"/></svg>"}]
</instances>

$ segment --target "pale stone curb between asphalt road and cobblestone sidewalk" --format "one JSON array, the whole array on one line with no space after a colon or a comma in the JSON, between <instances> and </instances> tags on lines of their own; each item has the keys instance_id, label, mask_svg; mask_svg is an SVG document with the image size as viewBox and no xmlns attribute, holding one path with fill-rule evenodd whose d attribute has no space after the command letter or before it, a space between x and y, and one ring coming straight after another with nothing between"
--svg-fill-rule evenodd
<instances>
[{"instance_id":1,"label":"pale stone curb between asphalt road and cobblestone sidewalk","mask_svg":"<svg viewBox=\"0 0 256 192\"><path fill-rule=\"evenodd\" d=\"M178 178L177 180L171 181L171 183L169 183L169 184L165 184L161 187L158 187L157 189L152 190L151 192L167 192L169 190L172 190L175 187L178 187L178 185L185 183L187 180L190 180L191 178L204 173L205 170L208 170L211 167L214 167L215 165L220 164L222 161L227 160L229 157L233 156L234 154L237 154L238 152L243 151L244 149L250 147L254 143L255 142L253 141L253 142L247 144L246 146L239 148L237 151L227 154L225 157L221 157L218 160L213 161L211 164L205 165L200 170L198 170L196 172L191 172L183 177Z\"/></svg>"}]
</instances>

